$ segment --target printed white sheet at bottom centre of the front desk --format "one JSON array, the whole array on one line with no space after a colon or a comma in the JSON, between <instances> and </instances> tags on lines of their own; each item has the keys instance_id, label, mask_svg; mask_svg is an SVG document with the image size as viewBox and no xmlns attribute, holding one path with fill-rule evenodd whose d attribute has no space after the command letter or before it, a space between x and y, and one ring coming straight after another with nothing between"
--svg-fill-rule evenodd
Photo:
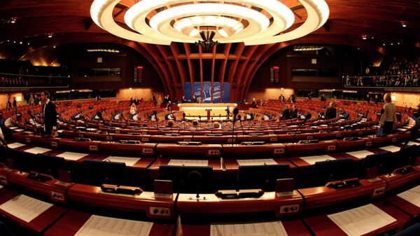
<instances>
[{"instance_id":1,"label":"printed white sheet at bottom centre of the front desk","mask_svg":"<svg viewBox=\"0 0 420 236\"><path fill-rule=\"evenodd\" d=\"M210 236L287 236L281 221L265 223L212 224Z\"/></svg>"}]
</instances>

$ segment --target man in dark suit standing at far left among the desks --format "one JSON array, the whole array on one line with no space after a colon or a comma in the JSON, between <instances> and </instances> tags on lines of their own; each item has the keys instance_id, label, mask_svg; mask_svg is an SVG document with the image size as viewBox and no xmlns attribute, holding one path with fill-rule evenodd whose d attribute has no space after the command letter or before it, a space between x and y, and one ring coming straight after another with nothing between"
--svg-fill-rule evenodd
<instances>
[{"instance_id":1,"label":"man in dark suit standing at far left among the desks","mask_svg":"<svg viewBox=\"0 0 420 236\"><path fill-rule=\"evenodd\" d=\"M57 111L55 110L55 104L52 104L50 101L50 93L47 91L41 92L41 101L44 134L55 135L57 129Z\"/></svg>"}]
</instances>

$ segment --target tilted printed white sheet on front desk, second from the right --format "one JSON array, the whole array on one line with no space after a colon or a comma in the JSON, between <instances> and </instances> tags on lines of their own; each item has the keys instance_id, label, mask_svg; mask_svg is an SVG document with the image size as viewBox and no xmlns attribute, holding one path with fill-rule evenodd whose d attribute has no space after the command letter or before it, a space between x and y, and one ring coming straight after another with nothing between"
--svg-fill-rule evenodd
<instances>
[{"instance_id":1,"label":"tilted printed white sheet on front desk, second from the right","mask_svg":"<svg viewBox=\"0 0 420 236\"><path fill-rule=\"evenodd\" d=\"M349 236L365 235L397 221L374 204L330 214L328 218Z\"/></svg>"}]
</instances>

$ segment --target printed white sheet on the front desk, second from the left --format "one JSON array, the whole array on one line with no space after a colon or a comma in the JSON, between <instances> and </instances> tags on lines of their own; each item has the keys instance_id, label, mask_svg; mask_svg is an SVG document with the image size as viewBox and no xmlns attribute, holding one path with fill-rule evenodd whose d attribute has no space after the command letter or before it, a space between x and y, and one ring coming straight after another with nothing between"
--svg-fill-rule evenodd
<instances>
[{"instance_id":1,"label":"printed white sheet on the front desk, second from the left","mask_svg":"<svg viewBox=\"0 0 420 236\"><path fill-rule=\"evenodd\" d=\"M153 223L92 215L74 236L148 236Z\"/></svg>"}]
</instances>

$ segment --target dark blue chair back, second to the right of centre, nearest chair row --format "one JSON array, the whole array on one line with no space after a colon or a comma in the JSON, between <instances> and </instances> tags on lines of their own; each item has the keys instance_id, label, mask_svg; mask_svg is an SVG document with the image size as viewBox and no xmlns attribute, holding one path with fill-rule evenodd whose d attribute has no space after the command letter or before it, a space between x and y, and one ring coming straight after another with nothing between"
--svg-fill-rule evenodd
<instances>
[{"instance_id":1,"label":"dark blue chair back, second to the right of centre, nearest chair row","mask_svg":"<svg viewBox=\"0 0 420 236\"><path fill-rule=\"evenodd\" d=\"M323 186L329 181L350 179L356 177L353 171L351 158L338 160L325 160L316 162L309 177L309 182L314 186Z\"/></svg>"}]
</instances>

